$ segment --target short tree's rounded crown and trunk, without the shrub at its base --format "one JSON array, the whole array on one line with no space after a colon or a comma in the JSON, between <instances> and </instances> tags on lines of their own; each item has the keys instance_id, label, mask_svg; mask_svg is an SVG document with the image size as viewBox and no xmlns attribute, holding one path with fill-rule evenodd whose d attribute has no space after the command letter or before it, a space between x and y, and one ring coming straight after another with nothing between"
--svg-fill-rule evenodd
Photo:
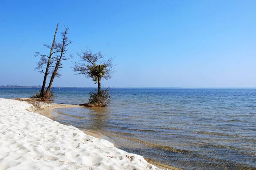
<instances>
[{"instance_id":1,"label":"short tree's rounded crown and trunk, without the shrub at its base","mask_svg":"<svg viewBox=\"0 0 256 170\"><path fill-rule=\"evenodd\" d=\"M108 60L103 60L105 55L101 52L92 53L90 49L85 52L82 51L81 54L78 53L81 61L80 63L75 63L73 67L75 72L84 75L86 78L92 78L92 81L98 83L98 92L101 92L101 78L106 80L111 78L111 74L114 72L112 68L113 58Z\"/></svg>"}]
</instances>

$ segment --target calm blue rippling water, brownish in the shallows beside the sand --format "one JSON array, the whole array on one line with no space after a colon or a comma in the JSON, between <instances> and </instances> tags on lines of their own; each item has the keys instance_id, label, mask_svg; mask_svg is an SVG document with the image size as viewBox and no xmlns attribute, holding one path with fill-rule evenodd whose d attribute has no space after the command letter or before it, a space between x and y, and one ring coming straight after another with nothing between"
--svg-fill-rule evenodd
<instances>
[{"instance_id":1,"label":"calm blue rippling water, brownish in the shallows beside the sand","mask_svg":"<svg viewBox=\"0 0 256 170\"><path fill-rule=\"evenodd\" d=\"M54 89L55 103L93 89ZM0 98L35 89L0 89ZM105 108L57 109L55 119L102 132L116 147L186 170L256 169L256 89L112 89Z\"/></svg>"}]
</instances>

